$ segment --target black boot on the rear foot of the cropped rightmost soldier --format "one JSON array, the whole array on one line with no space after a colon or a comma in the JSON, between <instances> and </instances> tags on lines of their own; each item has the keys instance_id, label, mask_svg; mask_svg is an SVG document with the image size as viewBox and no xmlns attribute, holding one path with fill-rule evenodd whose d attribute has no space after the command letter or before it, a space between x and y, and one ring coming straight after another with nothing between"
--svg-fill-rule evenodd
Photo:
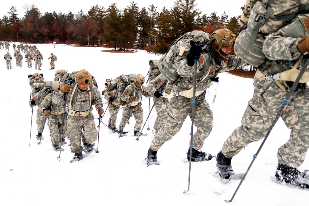
<instances>
[{"instance_id":1,"label":"black boot on the rear foot of the cropped rightmost soldier","mask_svg":"<svg viewBox=\"0 0 309 206\"><path fill-rule=\"evenodd\" d=\"M227 158L222 153L222 150L217 155L217 169L220 177L229 179L231 175L235 174L231 165L232 158Z\"/></svg>"}]
</instances>

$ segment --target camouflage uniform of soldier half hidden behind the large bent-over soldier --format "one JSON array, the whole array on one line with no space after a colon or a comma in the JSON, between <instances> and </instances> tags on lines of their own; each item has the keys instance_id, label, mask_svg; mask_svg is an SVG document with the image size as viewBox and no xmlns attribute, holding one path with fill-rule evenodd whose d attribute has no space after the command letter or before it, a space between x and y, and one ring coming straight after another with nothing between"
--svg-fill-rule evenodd
<instances>
[{"instance_id":1,"label":"camouflage uniform of soldier half hidden behind the large bent-over soldier","mask_svg":"<svg viewBox=\"0 0 309 206\"><path fill-rule=\"evenodd\" d=\"M157 111L157 118L155 119L154 130L158 131L163 125L163 120L166 115L166 108L168 104L167 98L155 97L155 91L165 92L167 94L171 93L171 83L168 82L163 74L159 74L157 77L152 79L147 85L147 92L153 96L153 101L155 103L155 110ZM162 109L161 111L159 111ZM158 112L159 111L159 112ZM154 131L154 132L155 132Z\"/></svg>"}]
</instances>

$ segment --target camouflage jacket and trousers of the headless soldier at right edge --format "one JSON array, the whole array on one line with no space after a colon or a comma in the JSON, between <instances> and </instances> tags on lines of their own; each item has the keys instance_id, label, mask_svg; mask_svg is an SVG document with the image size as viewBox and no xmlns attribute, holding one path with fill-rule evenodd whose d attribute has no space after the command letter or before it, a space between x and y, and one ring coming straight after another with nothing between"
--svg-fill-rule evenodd
<instances>
[{"instance_id":1,"label":"camouflage jacket and trousers of the headless soldier at right edge","mask_svg":"<svg viewBox=\"0 0 309 206\"><path fill-rule=\"evenodd\" d=\"M263 53L274 61L262 70L264 74L274 75L290 69L303 57L297 43L302 37L309 35L309 32L303 29L302 23L302 19L308 18L309 15L299 15L288 26L266 38ZM283 61L278 64L277 60ZM303 59L298 68L301 68L306 60ZM279 87L280 83L285 90ZM223 144L222 153L226 158L232 158L248 143L265 137L292 83L254 78L254 95L243 115L242 125L236 128ZM309 148L309 88L306 83L298 84L281 118L291 132L290 139L278 149L278 162L285 166L298 167L303 163Z\"/></svg>"}]
</instances>

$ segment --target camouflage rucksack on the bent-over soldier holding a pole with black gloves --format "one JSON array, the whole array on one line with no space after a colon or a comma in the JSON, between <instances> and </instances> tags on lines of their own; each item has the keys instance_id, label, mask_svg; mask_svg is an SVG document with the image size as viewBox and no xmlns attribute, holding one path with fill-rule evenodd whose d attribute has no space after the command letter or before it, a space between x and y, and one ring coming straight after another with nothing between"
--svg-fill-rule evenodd
<instances>
[{"instance_id":1,"label":"camouflage rucksack on the bent-over soldier holding a pole with black gloves","mask_svg":"<svg viewBox=\"0 0 309 206\"><path fill-rule=\"evenodd\" d=\"M190 41L193 40L194 42L199 41L201 45L201 49L204 51L209 51L208 45L210 43L210 35L203 31L192 31L187 32L183 36L180 36L178 39L174 40L168 50L167 53L161 57L159 62L159 70L161 74L170 82L173 82L174 84L177 82L184 82L184 81L190 81L193 78L183 78L180 77L180 75L177 74L177 68L173 67L174 60L176 56L179 58L178 60L181 61L182 59L185 59L186 56L189 54L190 50ZM179 55L180 48L184 47L185 51L182 56ZM209 55L210 56L210 55ZM209 68L212 61L211 59L207 61L207 64L203 69L197 74L197 79L205 76L205 71Z\"/></svg>"}]
</instances>

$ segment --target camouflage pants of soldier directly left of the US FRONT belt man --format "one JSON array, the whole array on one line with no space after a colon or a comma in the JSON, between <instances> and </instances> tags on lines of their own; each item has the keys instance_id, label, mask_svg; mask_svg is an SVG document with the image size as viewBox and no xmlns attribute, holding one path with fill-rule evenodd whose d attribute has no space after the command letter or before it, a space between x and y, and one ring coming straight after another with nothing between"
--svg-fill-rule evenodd
<instances>
[{"instance_id":1,"label":"camouflage pants of soldier directly left of the US FRONT belt man","mask_svg":"<svg viewBox=\"0 0 309 206\"><path fill-rule=\"evenodd\" d=\"M63 132L62 132L62 118L63 118L62 115L65 115ZM56 145L60 145L61 134L63 139L66 138L66 122L67 122L67 113L63 113L57 116L55 115L48 116L48 127L53 147Z\"/></svg>"}]
</instances>

